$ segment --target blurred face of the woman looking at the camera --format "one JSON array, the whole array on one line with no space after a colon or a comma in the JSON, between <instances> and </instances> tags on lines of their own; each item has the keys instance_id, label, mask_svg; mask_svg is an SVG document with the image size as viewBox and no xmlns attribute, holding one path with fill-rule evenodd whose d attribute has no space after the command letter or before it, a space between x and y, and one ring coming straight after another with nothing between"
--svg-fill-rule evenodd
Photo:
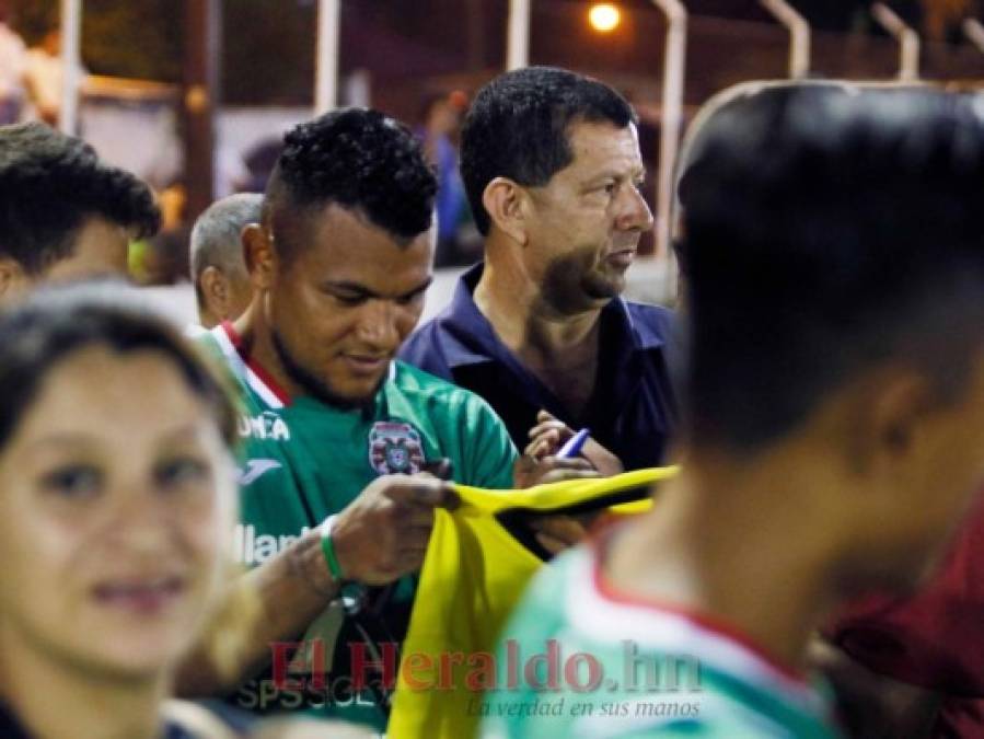
<instances>
[{"instance_id":1,"label":"blurred face of the woman looking at the camera","mask_svg":"<svg viewBox=\"0 0 984 739\"><path fill-rule=\"evenodd\" d=\"M231 470L163 354L62 360L0 453L0 650L130 677L173 665L217 600Z\"/></svg>"}]
</instances>

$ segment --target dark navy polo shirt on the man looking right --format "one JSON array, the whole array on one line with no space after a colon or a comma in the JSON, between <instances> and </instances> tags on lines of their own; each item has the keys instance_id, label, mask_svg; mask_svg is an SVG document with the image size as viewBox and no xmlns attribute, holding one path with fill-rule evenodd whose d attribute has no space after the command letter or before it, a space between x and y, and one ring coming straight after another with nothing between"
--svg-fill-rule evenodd
<instances>
[{"instance_id":1,"label":"dark navy polo shirt on the man looking right","mask_svg":"<svg viewBox=\"0 0 984 739\"><path fill-rule=\"evenodd\" d=\"M481 276L481 264L462 276L450 305L409 337L401 358L488 401L520 451L530 441L536 412L546 408L571 428L589 427L626 470L663 463L676 422L667 359L672 311L621 298L602 309L594 391L584 416L574 418L478 310L473 292Z\"/></svg>"}]
</instances>

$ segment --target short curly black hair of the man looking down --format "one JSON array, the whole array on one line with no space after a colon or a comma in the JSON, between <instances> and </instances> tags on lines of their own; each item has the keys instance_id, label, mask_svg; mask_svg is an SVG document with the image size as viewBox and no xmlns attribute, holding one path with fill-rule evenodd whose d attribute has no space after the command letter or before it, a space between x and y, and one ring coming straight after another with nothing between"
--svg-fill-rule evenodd
<instances>
[{"instance_id":1,"label":"short curly black hair of the man looking down","mask_svg":"<svg viewBox=\"0 0 984 739\"><path fill-rule=\"evenodd\" d=\"M360 211L406 244L431 227L437 188L433 170L406 126L378 111L341 108L285 136L267 185L264 223L276 231L275 216L285 209L335 203Z\"/></svg>"}]
</instances>

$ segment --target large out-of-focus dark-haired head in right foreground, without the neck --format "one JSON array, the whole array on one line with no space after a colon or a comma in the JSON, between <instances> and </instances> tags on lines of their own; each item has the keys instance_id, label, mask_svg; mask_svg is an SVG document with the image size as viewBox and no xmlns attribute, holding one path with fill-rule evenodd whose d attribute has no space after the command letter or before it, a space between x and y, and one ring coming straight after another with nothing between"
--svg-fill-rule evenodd
<instances>
[{"instance_id":1,"label":"large out-of-focus dark-haired head in right foreground, without the neck","mask_svg":"<svg viewBox=\"0 0 984 739\"><path fill-rule=\"evenodd\" d=\"M980 489L982 183L979 112L933 91L750 90L690 146L687 454L790 472L775 510L850 580L911 584Z\"/></svg>"}]
</instances>

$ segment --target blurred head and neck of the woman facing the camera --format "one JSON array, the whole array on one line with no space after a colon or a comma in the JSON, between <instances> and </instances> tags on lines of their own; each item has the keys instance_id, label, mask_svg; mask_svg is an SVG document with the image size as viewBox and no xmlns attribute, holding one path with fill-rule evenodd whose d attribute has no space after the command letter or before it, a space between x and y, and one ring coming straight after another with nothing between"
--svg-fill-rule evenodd
<instances>
[{"instance_id":1,"label":"blurred head and neck of the woman facing the camera","mask_svg":"<svg viewBox=\"0 0 984 739\"><path fill-rule=\"evenodd\" d=\"M0 703L35 736L67 736L78 702L56 693L163 698L219 613L235 515L222 386L174 328L91 290L0 319Z\"/></svg>"}]
</instances>

